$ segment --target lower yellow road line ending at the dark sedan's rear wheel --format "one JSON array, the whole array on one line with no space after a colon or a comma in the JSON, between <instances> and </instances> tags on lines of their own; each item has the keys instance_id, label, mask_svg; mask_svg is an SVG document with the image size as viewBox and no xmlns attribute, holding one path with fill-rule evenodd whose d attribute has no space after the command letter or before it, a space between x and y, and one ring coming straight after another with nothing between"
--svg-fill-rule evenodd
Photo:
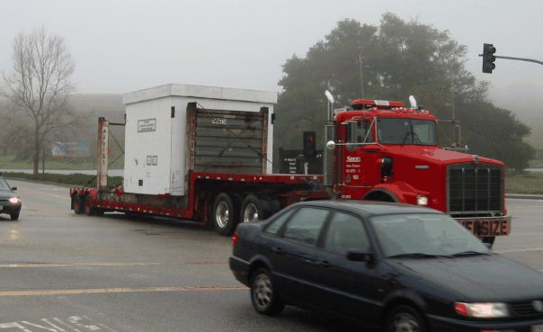
<instances>
[{"instance_id":1,"label":"lower yellow road line ending at the dark sedan's rear wheel","mask_svg":"<svg viewBox=\"0 0 543 332\"><path fill-rule=\"evenodd\" d=\"M140 287L140 288L86 288L79 290L38 290L38 291L4 291L0 292L0 298L22 296L58 296L58 295L82 295L82 294L110 294L122 292L227 292L245 291L245 286L221 287Z\"/></svg>"}]
</instances>

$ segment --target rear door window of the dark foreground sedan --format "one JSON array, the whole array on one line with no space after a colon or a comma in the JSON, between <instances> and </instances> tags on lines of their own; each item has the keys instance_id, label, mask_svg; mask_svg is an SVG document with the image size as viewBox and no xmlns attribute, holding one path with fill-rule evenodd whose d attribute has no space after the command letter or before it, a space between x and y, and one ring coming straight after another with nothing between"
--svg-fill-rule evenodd
<instances>
[{"instance_id":1,"label":"rear door window of the dark foreground sedan","mask_svg":"<svg viewBox=\"0 0 543 332\"><path fill-rule=\"evenodd\" d=\"M324 209L300 208L289 220L283 238L307 245L316 245L328 213L329 211Z\"/></svg>"}]
</instances>

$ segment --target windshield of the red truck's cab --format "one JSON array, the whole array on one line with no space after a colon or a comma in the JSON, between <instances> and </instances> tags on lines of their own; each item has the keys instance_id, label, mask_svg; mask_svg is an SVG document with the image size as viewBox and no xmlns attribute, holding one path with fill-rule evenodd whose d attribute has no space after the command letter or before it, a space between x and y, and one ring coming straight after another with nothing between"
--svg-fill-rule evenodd
<instances>
[{"instance_id":1,"label":"windshield of the red truck's cab","mask_svg":"<svg viewBox=\"0 0 543 332\"><path fill-rule=\"evenodd\" d=\"M383 144L437 144L435 122L431 120L379 118L377 128Z\"/></svg>"}]
</instances>

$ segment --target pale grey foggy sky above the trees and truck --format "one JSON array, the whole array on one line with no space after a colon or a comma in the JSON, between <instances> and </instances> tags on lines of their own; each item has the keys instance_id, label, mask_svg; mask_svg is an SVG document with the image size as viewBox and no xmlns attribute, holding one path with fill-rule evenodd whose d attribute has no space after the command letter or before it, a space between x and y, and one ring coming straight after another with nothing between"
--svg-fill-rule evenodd
<instances>
[{"instance_id":1,"label":"pale grey foggy sky above the trees and truck","mask_svg":"<svg viewBox=\"0 0 543 332\"><path fill-rule=\"evenodd\" d=\"M287 58L305 56L340 20L378 24L386 12L449 30L498 105L543 104L543 66L498 59L487 75L477 57L489 42L496 55L543 60L541 0L0 0L0 71L12 66L13 38L43 26L65 38L79 93L166 83L280 91Z\"/></svg>"}]
</instances>

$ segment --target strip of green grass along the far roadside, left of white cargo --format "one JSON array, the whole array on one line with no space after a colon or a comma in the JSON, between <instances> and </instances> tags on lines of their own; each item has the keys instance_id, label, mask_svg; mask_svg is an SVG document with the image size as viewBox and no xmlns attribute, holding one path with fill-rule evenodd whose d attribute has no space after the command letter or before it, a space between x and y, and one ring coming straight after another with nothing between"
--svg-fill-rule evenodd
<instances>
[{"instance_id":1,"label":"strip of green grass along the far roadside, left of white cargo","mask_svg":"<svg viewBox=\"0 0 543 332\"><path fill-rule=\"evenodd\" d=\"M32 181L49 182L53 184L70 184L75 186L93 187L96 186L96 175L85 174L28 174L28 173L13 173L4 172L4 176L8 179L23 179ZM108 184L110 186L122 183L122 176L108 176Z\"/></svg>"}]
</instances>

